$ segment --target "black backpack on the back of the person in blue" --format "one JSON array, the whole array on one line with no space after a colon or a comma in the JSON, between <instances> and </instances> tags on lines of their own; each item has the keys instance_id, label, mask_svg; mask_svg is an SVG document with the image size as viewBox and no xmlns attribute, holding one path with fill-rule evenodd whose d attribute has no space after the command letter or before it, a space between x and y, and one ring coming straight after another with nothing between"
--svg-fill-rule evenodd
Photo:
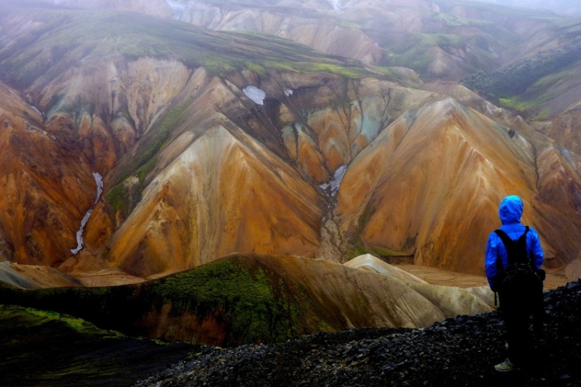
<instances>
[{"instance_id":1,"label":"black backpack on the back of the person in blue","mask_svg":"<svg viewBox=\"0 0 581 387\"><path fill-rule=\"evenodd\" d=\"M501 303L508 308L517 308L526 313L532 313L539 300L542 300L543 281L540 270L537 270L533 260L526 252L526 234L517 240L512 240L501 229L495 230L501 238L508 255L508 266L505 268L500 258L497 258L497 270L499 272L499 287L497 291L501 297Z\"/></svg>"}]
</instances>

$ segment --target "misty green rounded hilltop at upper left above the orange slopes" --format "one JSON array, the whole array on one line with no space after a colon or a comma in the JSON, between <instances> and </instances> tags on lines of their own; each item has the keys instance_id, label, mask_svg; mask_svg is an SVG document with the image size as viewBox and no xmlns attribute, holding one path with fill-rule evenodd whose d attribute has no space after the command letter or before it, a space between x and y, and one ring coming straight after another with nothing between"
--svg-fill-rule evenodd
<instances>
[{"instance_id":1,"label":"misty green rounded hilltop at upper left above the orange slopes","mask_svg":"<svg viewBox=\"0 0 581 387\"><path fill-rule=\"evenodd\" d=\"M23 7L28 8L24 19ZM136 12L62 10L7 0L0 1L0 8L6 11L3 23L8 26L0 38L0 75L17 88L26 88L39 77L52 79L81 60L111 55L176 59L218 75L243 69L264 75L268 69L347 77L390 73L372 72L358 61L324 55L271 35L214 32Z\"/></svg>"}]
</instances>

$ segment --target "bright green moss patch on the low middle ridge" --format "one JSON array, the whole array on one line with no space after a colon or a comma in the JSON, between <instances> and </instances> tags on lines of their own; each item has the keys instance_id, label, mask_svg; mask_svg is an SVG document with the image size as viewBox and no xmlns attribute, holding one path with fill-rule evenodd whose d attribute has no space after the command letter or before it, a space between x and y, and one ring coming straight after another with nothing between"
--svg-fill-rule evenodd
<instances>
[{"instance_id":1,"label":"bright green moss patch on the low middle ridge","mask_svg":"<svg viewBox=\"0 0 581 387\"><path fill-rule=\"evenodd\" d=\"M228 327L225 345L290 339L305 314L284 282L227 259L169 276L147 294L159 305L171 302L172 313L188 310L203 317L221 311Z\"/></svg>"}]
</instances>

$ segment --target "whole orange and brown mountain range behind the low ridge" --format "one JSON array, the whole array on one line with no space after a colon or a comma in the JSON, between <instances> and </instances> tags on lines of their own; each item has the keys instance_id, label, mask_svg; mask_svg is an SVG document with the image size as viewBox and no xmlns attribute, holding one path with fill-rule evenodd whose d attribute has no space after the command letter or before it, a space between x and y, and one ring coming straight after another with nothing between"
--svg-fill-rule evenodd
<instances>
[{"instance_id":1,"label":"whole orange and brown mountain range behind the low ridge","mask_svg":"<svg viewBox=\"0 0 581 387\"><path fill-rule=\"evenodd\" d=\"M340 53L358 58L344 59L281 39L285 34L266 26L284 10L294 25L299 8L290 5L222 9L208 1L222 19L196 22L202 27L115 4L1 3L1 259L153 278L234 252L340 263L369 252L481 274L497 203L509 193L522 196L523 220L540 232L546 267L562 269L578 258L579 63L542 56L559 50L571 57L575 19L448 1L368 8L345 1L308 14L316 21L338 12L338 20L357 25L349 28L376 33L377 20L365 15L400 12L410 21L409 39L443 39L429 40L430 47L448 50L463 66L443 76L414 61L415 71L403 68L403 51L398 60ZM254 12L255 23L227 27L225 19L244 12ZM504 18L494 24L495 15ZM231 32L256 29L258 20L260 34ZM216 31L205 28L210 24ZM387 23L382 36L397 32L396 24ZM477 58L469 55L476 44L495 59L470 62L445 40L452 36L470 58ZM326 41L341 39L331 34ZM535 50L524 50L533 43ZM387 57L399 52L384 50ZM548 93L542 103L523 102L527 120L457 83L476 70L500 68L505 76L528 63L535 66L528 78L514 78L522 86L515 95L484 88L481 79L465 82L497 93L495 104L516 104L568 74L571 82L560 82L569 85L561 94L567 99ZM96 203L95 172L104 177ZM89 209L84 248L73 254Z\"/></svg>"}]
</instances>

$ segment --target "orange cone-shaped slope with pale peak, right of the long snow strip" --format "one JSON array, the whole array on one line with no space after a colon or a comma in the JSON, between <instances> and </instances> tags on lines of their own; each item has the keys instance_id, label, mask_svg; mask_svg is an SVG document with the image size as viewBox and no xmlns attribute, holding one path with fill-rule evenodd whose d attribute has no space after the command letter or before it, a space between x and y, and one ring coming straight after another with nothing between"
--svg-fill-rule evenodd
<instances>
[{"instance_id":1,"label":"orange cone-shaped slope with pale peak, right of the long snow strip","mask_svg":"<svg viewBox=\"0 0 581 387\"><path fill-rule=\"evenodd\" d=\"M138 276L196 267L232 252L309 256L317 193L243 132L205 131L161 171L113 235L109 261Z\"/></svg>"}]
</instances>

